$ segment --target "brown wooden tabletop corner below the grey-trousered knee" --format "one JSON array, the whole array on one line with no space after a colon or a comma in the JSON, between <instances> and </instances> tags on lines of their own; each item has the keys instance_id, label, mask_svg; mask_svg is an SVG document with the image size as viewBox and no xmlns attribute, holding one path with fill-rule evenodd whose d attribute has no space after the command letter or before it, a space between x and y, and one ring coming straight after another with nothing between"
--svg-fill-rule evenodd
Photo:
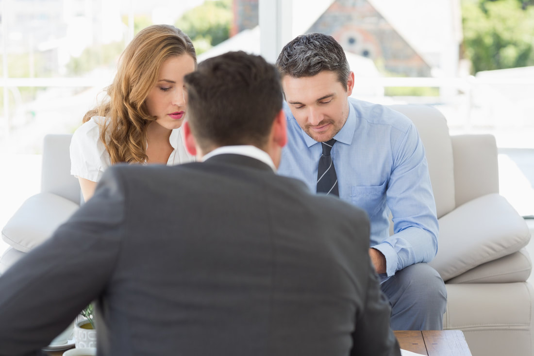
<instances>
[{"instance_id":1,"label":"brown wooden tabletop corner below the grey-trousered knee","mask_svg":"<svg viewBox=\"0 0 534 356\"><path fill-rule=\"evenodd\" d=\"M403 350L428 356L472 356L461 330L394 331Z\"/></svg>"}]
</instances>

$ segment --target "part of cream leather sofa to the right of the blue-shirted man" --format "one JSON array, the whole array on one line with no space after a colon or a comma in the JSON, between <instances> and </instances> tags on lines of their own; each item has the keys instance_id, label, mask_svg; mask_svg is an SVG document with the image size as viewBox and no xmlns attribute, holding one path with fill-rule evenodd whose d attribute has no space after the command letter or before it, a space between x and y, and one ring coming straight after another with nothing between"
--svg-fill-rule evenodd
<instances>
[{"instance_id":1,"label":"part of cream leather sofa to the right of the blue-shirted man","mask_svg":"<svg viewBox=\"0 0 534 356\"><path fill-rule=\"evenodd\" d=\"M391 108L411 118L425 146L439 218L430 265L447 288L444 329L464 331L474 356L533 355L534 289L523 248L530 232L499 195L494 137L449 136L433 107Z\"/></svg>"}]
</instances>

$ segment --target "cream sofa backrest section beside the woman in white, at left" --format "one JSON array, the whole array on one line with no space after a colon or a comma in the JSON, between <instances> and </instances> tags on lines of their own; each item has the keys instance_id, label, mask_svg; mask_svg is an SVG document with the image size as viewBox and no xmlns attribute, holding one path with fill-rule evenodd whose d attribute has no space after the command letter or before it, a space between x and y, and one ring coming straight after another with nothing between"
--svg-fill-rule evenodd
<instances>
[{"instance_id":1,"label":"cream sofa backrest section beside the woman in white, at left","mask_svg":"<svg viewBox=\"0 0 534 356\"><path fill-rule=\"evenodd\" d=\"M54 193L80 204L80 183L70 175L72 135L46 135L43 144L41 192Z\"/></svg>"}]
</instances>

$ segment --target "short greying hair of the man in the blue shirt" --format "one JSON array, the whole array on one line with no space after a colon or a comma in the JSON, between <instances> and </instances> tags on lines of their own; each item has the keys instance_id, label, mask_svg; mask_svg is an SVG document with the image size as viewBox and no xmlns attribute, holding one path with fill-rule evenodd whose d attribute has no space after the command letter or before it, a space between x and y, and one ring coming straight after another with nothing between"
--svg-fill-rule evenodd
<instances>
[{"instance_id":1,"label":"short greying hair of the man in the blue shirt","mask_svg":"<svg viewBox=\"0 0 534 356\"><path fill-rule=\"evenodd\" d=\"M350 68L345 51L332 36L320 33L295 37L284 46L276 65L283 76L311 77L323 70L337 74L337 80L347 85Z\"/></svg>"}]
</instances>

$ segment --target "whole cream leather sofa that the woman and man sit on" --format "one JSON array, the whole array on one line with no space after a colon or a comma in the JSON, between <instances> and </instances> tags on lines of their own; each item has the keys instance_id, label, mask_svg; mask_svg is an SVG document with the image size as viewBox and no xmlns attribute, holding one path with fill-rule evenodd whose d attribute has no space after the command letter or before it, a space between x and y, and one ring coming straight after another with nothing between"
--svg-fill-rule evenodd
<instances>
[{"instance_id":1,"label":"whole cream leather sofa that the woman and man sit on","mask_svg":"<svg viewBox=\"0 0 534 356\"><path fill-rule=\"evenodd\" d=\"M445 117L427 106L395 105L425 145L439 218L431 265L446 282L445 329L461 329L474 356L533 355L534 290L524 220L499 195L497 146L490 135L450 136ZM80 204L70 176L70 135L44 141L42 192L30 197L2 231L11 245L0 273L44 241Z\"/></svg>"}]
</instances>

